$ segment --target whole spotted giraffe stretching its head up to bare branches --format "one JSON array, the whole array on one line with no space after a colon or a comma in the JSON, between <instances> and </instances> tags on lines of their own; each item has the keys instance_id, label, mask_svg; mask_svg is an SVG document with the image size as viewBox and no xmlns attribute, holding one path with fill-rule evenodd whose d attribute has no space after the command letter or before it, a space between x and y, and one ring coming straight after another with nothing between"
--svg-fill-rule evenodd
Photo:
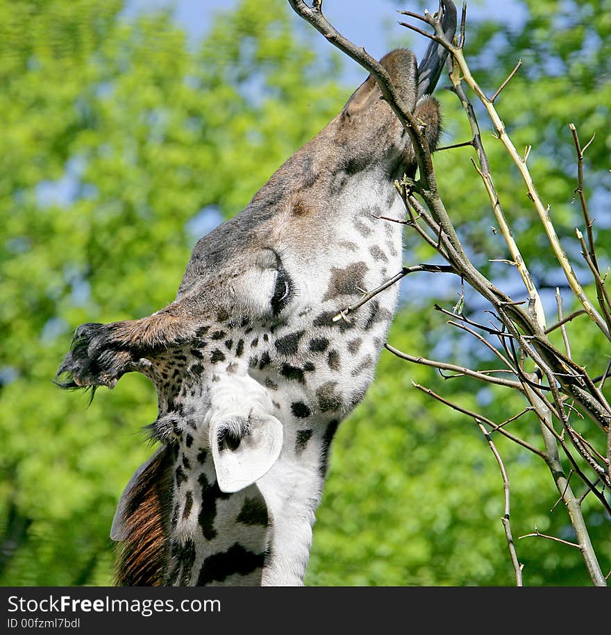
<instances>
[{"instance_id":1,"label":"whole spotted giraffe stretching its head up to bare branches","mask_svg":"<svg viewBox=\"0 0 611 635\"><path fill-rule=\"evenodd\" d=\"M444 3L444 30L455 9ZM431 43L380 60L426 124L445 60ZM74 332L62 387L112 388L131 371L158 393L158 450L119 500L117 584L303 584L330 443L374 378L396 285L349 319L346 305L401 270L415 174L408 135L369 76L335 119L236 217L194 247L176 300L151 316ZM57 378L56 378L57 379Z\"/></svg>"}]
</instances>

